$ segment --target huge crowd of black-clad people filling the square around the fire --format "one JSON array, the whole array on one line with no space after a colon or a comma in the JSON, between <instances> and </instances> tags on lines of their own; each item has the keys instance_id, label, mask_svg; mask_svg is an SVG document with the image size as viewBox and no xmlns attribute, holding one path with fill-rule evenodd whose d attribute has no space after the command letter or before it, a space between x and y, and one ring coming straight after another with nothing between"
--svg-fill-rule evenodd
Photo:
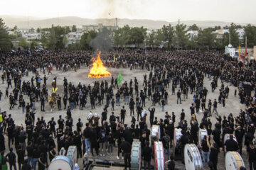
<instances>
[{"instance_id":1,"label":"huge crowd of black-clad people filling the square around the fire","mask_svg":"<svg viewBox=\"0 0 256 170\"><path fill-rule=\"evenodd\" d=\"M169 169L175 167L170 152L174 128L182 129L182 148L186 143L198 145L199 128L207 130L208 137L203 139L199 147L203 163L207 163L209 169L217 169L220 147L224 146L227 151L238 151L240 154L242 147L246 146L250 169L252 166L256 169L256 149L252 143L256 125L256 96L253 96L254 93L251 96L251 91L248 92L244 86L246 82L255 90L255 61L243 67L242 62L225 57L218 51L148 50L145 55L140 50L114 50L102 52L102 60L107 67L144 69L144 79L131 77L129 81L117 84L117 78L112 77L111 81L95 81L94 84L85 85L68 81L65 77L63 80L55 77L48 82L47 72L50 74L53 67L57 72L76 71L82 65L90 67L93 54L90 51L50 50L1 54L2 83L7 84L7 88L0 91L0 101L9 99L10 103L9 111L0 115L2 170L7 168L6 162L9 169L14 167L16 170L16 162L18 169L22 170L36 167L46 169L62 148L67 151L71 145L77 147L78 158L82 158L83 154L85 157L90 154L100 157L117 154L117 159L120 159L122 154L125 169L129 169L134 140L141 142L144 169L151 169L151 155L154 152L151 148L152 125L160 127L161 137L156 140L163 143ZM23 77L29 74L32 74L31 81L24 81ZM204 79L210 79L211 90L204 86ZM234 95L238 93L245 109L234 115L222 116L218 108L220 104L225 107L225 100L230 95L229 86L235 86L238 90ZM65 109L66 116L62 118L60 115L47 122L43 117L38 118L35 111L38 110L36 104L41 106L42 112L46 110L45 105L53 97L50 96L51 89L56 90L56 96L55 103L49 103L50 106L54 108L56 104L59 111ZM208 94L216 89L219 90L219 97L209 99ZM4 98L1 98L3 94ZM188 94L193 98L188 98ZM170 95L176 95L178 105L191 100L191 106L183 106L190 108L191 120L185 119L189 113L184 113L182 108L179 118L174 112L164 112L164 106L169 105ZM90 110L85 107L86 104L90 105ZM126 105L129 111L126 111ZM103 109L100 115L90 112L87 120L78 119L75 124L72 112L78 106L87 113L95 107ZM162 108L163 116L155 116L155 107L158 106ZM18 108L26 113L24 125L17 125L12 118L11 110ZM203 113L202 120L197 120L198 113ZM125 121L127 114L132 116L131 123ZM212 123L215 122L212 116L216 119L215 124ZM74 125L76 128L73 128ZM225 134L235 135L238 142L230 137L223 143ZM8 139L8 145L5 139ZM117 147L117 153L112 153L113 147Z\"/></svg>"}]
</instances>

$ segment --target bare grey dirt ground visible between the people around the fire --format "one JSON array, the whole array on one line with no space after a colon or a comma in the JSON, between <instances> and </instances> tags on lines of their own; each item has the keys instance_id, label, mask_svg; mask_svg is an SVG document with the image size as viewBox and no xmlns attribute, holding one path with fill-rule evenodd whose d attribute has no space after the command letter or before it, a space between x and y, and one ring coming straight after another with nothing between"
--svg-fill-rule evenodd
<instances>
[{"instance_id":1,"label":"bare grey dirt ground visible between the people around the fire","mask_svg":"<svg viewBox=\"0 0 256 170\"><path fill-rule=\"evenodd\" d=\"M123 77L124 81L127 81L128 83L129 83L130 79L132 79L132 81L134 82L134 77L137 77L137 79L139 81L139 89L142 89L143 74L146 73L147 77L149 77L149 72L146 71L146 69L144 69L144 70L142 70L142 69L133 69L131 71L128 68L127 69L108 68L108 71L112 74L114 79L117 77L117 75L120 72L122 74L122 77ZM105 81L105 80L107 80L109 84L111 82L111 77L102 78L102 79L92 79L92 78L87 77L88 73L89 73L89 70L88 70L87 67L81 67L80 69L78 69L78 72L74 72L74 71L69 71L69 72L55 71L55 68L54 68L53 69L53 74L46 75L46 77L48 77L47 87L48 87L49 95L51 93L51 85L50 84L53 81L54 77L57 77L57 86L59 88L56 93L60 94L61 97L63 97L63 77L66 77L68 79L68 81L71 81L72 84L75 84L75 85L78 85L79 82L81 84L85 84L86 86L88 84L90 84L92 86L94 81ZM43 78L43 76L44 76L43 72L39 72L39 74L40 74L41 78ZM22 81L30 81L32 76L33 75L30 72L28 77L23 77L22 78ZM209 91L209 94L207 96L207 104L208 104L208 99L211 99L213 101L214 98L216 98L217 101L218 101L218 89L216 89L215 92L212 93L211 89L210 89L210 82L211 81L209 79L205 78L204 86L206 86L206 89L208 89L208 91ZM228 84L225 83L225 86L226 85L228 85ZM134 83L133 83L133 86L134 86ZM21 108L18 109L18 106L15 106L14 109L9 110L9 98L4 98L6 87L7 87L6 82L4 84L0 84L0 90L3 92L3 96L2 96L1 102L0 102L1 111L7 111L7 114L11 114L12 117L14 118L14 120L15 120L16 125L20 125L21 123L24 124L24 116L25 115L22 113ZM218 88L219 87L220 87L220 80L218 80ZM9 89L9 93L12 90L13 89ZM117 89L114 89L114 94L116 93L116 91L117 91ZM186 99L186 101L183 101L182 104L177 104L176 103L176 94L171 95L171 86L170 86L170 89L167 89L167 91L169 93L168 104L166 106L164 106L164 112L161 111L161 106L156 104L155 116L158 117L158 118L164 118L164 113L166 111L168 111L169 114L171 114L171 112L174 112L176 114L176 123L175 123L175 125L177 126L178 125L178 120L179 120L179 117L180 117L180 113L181 113L181 109L183 108L185 113L186 113L185 118L189 122L189 120L191 119L191 114L190 114L189 107L191 106L191 103L193 103L193 95L191 95L189 93L188 94L188 99ZM178 91L178 89L176 89L176 92L177 91ZM228 99L226 99L225 108L223 108L222 105L218 104L218 109L217 110L218 110L218 113L220 115L228 116L229 113L233 113L233 115L236 116L236 115L238 115L241 108L245 108L244 105L240 104L238 96L234 96L234 91L235 91L235 87L230 86L230 94L228 96ZM28 96L24 96L24 97L25 97L25 101L27 103L29 101ZM127 117L125 118L124 122L127 123L128 125L130 125L130 122L131 122L132 119L129 115L129 107L127 105L124 105L124 101L122 101L122 100L120 100L120 101L121 101L120 106L115 106L115 108L114 108L114 115L119 115L119 112L120 112L122 106L125 106L125 109L127 110ZM104 103L105 102L106 101L104 101ZM146 110L149 108L149 106L151 106L151 103L152 102L149 101L148 98L146 98L146 107L145 107ZM206 104L206 106L207 106L207 104ZM58 120L59 115L63 115L63 118L65 117L65 111L58 111L58 108L55 108L53 112L50 112L50 106L49 106L48 103L46 103L46 112L41 112L40 106L41 106L40 102L36 103L36 118L43 116L46 120L46 123L52 117L55 118L56 122ZM62 107L63 107L63 103L62 103ZM90 111L92 111L92 113L98 113L98 114L101 115L103 107L104 107L104 105L96 106L95 109L91 110L90 100L88 100L84 110L80 111L79 108L76 108L72 112L73 125L75 125L78 122L78 118L81 118L82 123L85 125L86 120L87 120L87 116L90 113ZM108 117L110 116L110 113L111 113L111 107L108 108ZM137 117L137 113L135 113L135 116ZM203 118L203 113L198 113L197 118L200 122L201 118ZM210 120L213 122L213 124L215 123L215 118L214 117L211 117ZM149 116L146 120L146 123L149 125ZM6 147L8 148L7 140L6 140ZM9 152L9 149L7 149L7 148L6 148L6 153ZM80 168L82 168L81 164L80 164Z\"/></svg>"}]
</instances>

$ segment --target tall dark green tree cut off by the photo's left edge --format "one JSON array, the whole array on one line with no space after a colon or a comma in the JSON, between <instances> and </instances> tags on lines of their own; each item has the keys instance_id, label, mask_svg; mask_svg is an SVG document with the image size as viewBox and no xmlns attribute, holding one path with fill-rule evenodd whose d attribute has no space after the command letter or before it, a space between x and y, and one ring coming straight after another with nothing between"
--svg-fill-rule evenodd
<instances>
[{"instance_id":1,"label":"tall dark green tree cut off by the photo's left edge","mask_svg":"<svg viewBox=\"0 0 256 170\"><path fill-rule=\"evenodd\" d=\"M0 18L0 51L8 52L13 46L4 21Z\"/></svg>"}]
</instances>

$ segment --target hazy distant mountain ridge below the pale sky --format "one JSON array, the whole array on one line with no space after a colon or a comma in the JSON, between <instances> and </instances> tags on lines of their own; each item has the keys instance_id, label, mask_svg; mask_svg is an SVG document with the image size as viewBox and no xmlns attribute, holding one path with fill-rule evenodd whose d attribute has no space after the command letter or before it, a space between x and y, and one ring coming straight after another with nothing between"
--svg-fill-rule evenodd
<instances>
[{"instance_id":1,"label":"hazy distant mountain ridge below the pale sky","mask_svg":"<svg viewBox=\"0 0 256 170\"><path fill-rule=\"evenodd\" d=\"M35 17L26 17L26 16L0 16L0 18L4 19L6 26L9 28L13 28L14 26L18 26L18 28L46 28L52 26L77 26L78 28L82 28L82 26L87 25L97 25L102 23L103 26L114 26L115 18L107 19L107 18L98 18L98 19L90 19L90 18L80 18L77 16L64 16L59 18L35 18ZM208 28L214 26L229 26L229 22L223 21L181 21L180 23L184 23L187 26L191 26L194 23L199 28ZM164 25L176 26L178 21L176 22L167 22L167 21L154 21L154 20L145 20L145 19L127 19L127 18L117 18L117 26L122 27L125 25L129 25L131 27L134 26L144 26L144 28L148 29L159 29ZM245 26L247 24L241 24Z\"/></svg>"}]
</instances>

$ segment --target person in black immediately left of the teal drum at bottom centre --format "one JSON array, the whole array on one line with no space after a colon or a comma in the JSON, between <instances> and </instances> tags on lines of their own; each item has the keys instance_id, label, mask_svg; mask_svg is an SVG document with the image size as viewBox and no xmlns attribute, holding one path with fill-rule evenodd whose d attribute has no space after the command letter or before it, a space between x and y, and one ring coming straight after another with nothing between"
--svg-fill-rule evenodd
<instances>
[{"instance_id":1,"label":"person in black immediately left of the teal drum at bottom centre","mask_svg":"<svg viewBox=\"0 0 256 170\"><path fill-rule=\"evenodd\" d=\"M131 145L129 142L124 141L124 138L122 138L122 143L120 145L120 149L124 154L124 169L127 169L127 166L129 169L131 169Z\"/></svg>"}]
</instances>

